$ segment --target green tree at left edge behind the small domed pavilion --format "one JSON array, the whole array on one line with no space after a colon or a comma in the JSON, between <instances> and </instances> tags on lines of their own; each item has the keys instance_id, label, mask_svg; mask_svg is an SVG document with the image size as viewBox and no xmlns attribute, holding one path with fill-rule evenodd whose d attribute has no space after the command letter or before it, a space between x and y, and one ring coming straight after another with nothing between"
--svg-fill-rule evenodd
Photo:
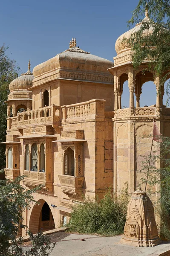
<instances>
[{"instance_id":1,"label":"green tree at left edge behind the small domed pavilion","mask_svg":"<svg viewBox=\"0 0 170 256\"><path fill-rule=\"evenodd\" d=\"M7 55L9 47L0 47L0 142L6 140L7 100L10 82L17 78L19 67ZM5 145L0 146L0 169L5 167Z\"/></svg>"}]
</instances>

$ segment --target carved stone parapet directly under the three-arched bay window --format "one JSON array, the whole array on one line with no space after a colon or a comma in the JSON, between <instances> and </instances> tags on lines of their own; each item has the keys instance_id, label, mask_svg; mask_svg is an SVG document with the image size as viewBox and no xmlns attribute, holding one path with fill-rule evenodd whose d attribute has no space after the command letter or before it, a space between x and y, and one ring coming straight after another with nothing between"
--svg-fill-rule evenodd
<instances>
[{"instance_id":1,"label":"carved stone parapet directly under the three-arched bay window","mask_svg":"<svg viewBox=\"0 0 170 256\"><path fill-rule=\"evenodd\" d=\"M38 185L44 185L46 182L46 174L45 172L32 172L32 171L24 171L24 177L23 183L25 183L27 186L38 186Z\"/></svg>"}]
</instances>

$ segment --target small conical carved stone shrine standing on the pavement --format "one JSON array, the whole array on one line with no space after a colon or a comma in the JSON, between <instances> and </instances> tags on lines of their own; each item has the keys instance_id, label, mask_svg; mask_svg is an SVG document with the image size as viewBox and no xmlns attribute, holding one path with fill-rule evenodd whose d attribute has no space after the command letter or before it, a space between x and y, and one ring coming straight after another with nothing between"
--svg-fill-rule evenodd
<instances>
[{"instance_id":1,"label":"small conical carved stone shrine standing on the pavement","mask_svg":"<svg viewBox=\"0 0 170 256\"><path fill-rule=\"evenodd\" d=\"M121 243L138 247L161 243L155 221L153 204L146 192L138 188L127 207L127 221Z\"/></svg>"}]
</instances>

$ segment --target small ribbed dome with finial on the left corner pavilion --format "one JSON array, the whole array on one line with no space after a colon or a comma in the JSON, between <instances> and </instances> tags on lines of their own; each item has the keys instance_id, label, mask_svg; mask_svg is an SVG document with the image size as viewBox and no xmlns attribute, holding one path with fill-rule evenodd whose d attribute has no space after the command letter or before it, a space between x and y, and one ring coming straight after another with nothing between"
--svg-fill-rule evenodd
<instances>
[{"instance_id":1,"label":"small ribbed dome with finial on the left corner pavilion","mask_svg":"<svg viewBox=\"0 0 170 256\"><path fill-rule=\"evenodd\" d=\"M28 71L23 73L21 76L14 79L9 84L9 90L27 90L28 88L32 87L32 80L34 79L33 74L30 71L30 60L28 64Z\"/></svg>"}]
</instances>

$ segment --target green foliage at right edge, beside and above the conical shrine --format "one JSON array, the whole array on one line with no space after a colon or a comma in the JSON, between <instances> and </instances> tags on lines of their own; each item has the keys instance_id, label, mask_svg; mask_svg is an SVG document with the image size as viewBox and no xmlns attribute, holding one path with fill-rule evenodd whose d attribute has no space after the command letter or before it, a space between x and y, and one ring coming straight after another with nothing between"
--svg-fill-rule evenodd
<instances>
[{"instance_id":1,"label":"green foliage at right edge, beside and above the conical shrine","mask_svg":"<svg viewBox=\"0 0 170 256\"><path fill-rule=\"evenodd\" d=\"M159 198L155 207L156 214L161 218L161 235L170 240L170 137L162 136L161 139L162 143L157 143L157 149L154 152L157 154L144 157L140 172L144 173L142 183L146 183L145 174L151 158L147 190L149 193L154 192ZM161 154L158 154L159 150ZM161 168L156 168L156 163L161 163ZM156 187L157 190L155 190Z\"/></svg>"}]
</instances>

